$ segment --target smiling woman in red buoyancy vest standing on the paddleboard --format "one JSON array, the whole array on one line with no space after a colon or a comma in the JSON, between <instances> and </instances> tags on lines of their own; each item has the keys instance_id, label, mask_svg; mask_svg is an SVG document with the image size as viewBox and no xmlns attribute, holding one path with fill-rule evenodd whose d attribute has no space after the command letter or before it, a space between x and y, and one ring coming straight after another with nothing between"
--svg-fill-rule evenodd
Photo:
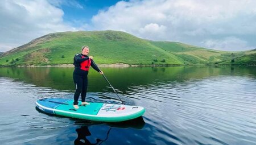
<instances>
[{"instance_id":1,"label":"smiling woman in red buoyancy vest standing on the paddleboard","mask_svg":"<svg viewBox=\"0 0 256 145\"><path fill-rule=\"evenodd\" d=\"M92 68L95 69L100 74L103 74L103 72L94 63L91 63L92 62L91 60L93 59L93 57L88 56L88 53L89 53L89 47L83 46L82 53L76 54L74 57L75 70L73 72L73 80L75 82L76 92L74 94L73 106L75 107L75 109L79 109L78 100L79 100L80 94L82 97L81 105L90 104L88 102L85 102L87 84L88 84L87 75L88 75L90 66L92 66Z\"/></svg>"}]
</instances>

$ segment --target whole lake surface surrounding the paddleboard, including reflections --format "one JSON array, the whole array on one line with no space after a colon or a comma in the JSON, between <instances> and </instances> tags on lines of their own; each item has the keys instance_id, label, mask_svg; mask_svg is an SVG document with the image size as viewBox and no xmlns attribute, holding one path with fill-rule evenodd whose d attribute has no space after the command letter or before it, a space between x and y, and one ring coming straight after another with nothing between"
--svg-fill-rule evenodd
<instances>
[{"instance_id":1,"label":"whole lake surface surrounding the paddleboard, including reflections","mask_svg":"<svg viewBox=\"0 0 256 145\"><path fill-rule=\"evenodd\" d=\"M1 144L256 144L256 67L102 68L142 118L100 123L40 113L43 97L73 98L73 68L0 68ZM89 73L88 101L120 103Z\"/></svg>"}]
</instances>

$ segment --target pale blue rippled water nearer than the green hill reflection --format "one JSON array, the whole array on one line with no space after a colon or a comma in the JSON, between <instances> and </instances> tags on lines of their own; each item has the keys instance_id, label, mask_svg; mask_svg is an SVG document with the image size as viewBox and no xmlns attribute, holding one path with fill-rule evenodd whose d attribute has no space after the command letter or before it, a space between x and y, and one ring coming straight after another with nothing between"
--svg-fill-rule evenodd
<instances>
[{"instance_id":1,"label":"pale blue rippled water nearer than the green hill reflection","mask_svg":"<svg viewBox=\"0 0 256 145\"><path fill-rule=\"evenodd\" d=\"M1 93L5 94L0 102L3 106L1 111L8 113L0 116L3 143L17 144L14 140L35 143L47 139L52 142L69 140L70 143L76 138L76 127L72 125L90 125L39 113L31 105L42 97L72 98L72 92L43 88L9 78L0 78L0 86ZM143 115L146 125L140 130L141 134L138 130L129 130L131 133L115 128L112 135L126 144L132 144L133 140L129 138L134 136L140 139L138 143L149 144L256 144L255 86L255 80L244 76L214 76L201 80L131 85L125 93L118 90L118 94L127 104L146 108ZM13 110L22 110L6 109L6 104L13 102L10 99L19 102ZM120 102L115 93L109 92L88 93L88 100ZM14 114L13 118L9 118L9 114ZM101 131L101 127L106 126L96 128ZM67 132L67 129L72 131ZM92 140L95 138L92 137Z\"/></svg>"}]
</instances>

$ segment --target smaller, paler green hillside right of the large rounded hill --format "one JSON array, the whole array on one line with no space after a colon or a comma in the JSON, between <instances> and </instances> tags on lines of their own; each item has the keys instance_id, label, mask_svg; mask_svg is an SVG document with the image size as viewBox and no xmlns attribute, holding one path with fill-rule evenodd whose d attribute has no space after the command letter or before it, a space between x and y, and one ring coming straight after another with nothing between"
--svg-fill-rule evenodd
<instances>
[{"instance_id":1,"label":"smaller, paler green hillside right of the large rounded hill","mask_svg":"<svg viewBox=\"0 0 256 145\"><path fill-rule=\"evenodd\" d=\"M237 57L256 53L256 51L253 50L242 52L217 51L177 42L150 41L150 43L164 49L167 52L174 53L174 55L183 59L186 64L219 64ZM254 60L255 59L256 58L254 58Z\"/></svg>"}]
</instances>

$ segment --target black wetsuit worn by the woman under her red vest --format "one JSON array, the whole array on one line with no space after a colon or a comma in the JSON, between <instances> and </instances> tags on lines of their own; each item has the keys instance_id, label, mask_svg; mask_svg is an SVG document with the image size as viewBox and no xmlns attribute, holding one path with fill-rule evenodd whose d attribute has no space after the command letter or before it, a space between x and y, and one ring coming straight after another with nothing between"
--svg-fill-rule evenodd
<instances>
[{"instance_id":1,"label":"black wetsuit worn by the woman under her red vest","mask_svg":"<svg viewBox=\"0 0 256 145\"><path fill-rule=\"evenodd\" d=\"M88 56L85 56L82 54L77 54L74 57L75 70L73 72L73 81L75 83L76 92L74 94L73 105L78 104L80 94L81 94L82 102L85 102L87 85L88 85L88 78L87 78L88 71L82 70L80 64L88 59L89 59ZM100 72L100 69L98 69L98 67L94 63L90 64L90 66L92 66L92 68L95 69L97 72Z\"/></svg>"}]
</instances>

